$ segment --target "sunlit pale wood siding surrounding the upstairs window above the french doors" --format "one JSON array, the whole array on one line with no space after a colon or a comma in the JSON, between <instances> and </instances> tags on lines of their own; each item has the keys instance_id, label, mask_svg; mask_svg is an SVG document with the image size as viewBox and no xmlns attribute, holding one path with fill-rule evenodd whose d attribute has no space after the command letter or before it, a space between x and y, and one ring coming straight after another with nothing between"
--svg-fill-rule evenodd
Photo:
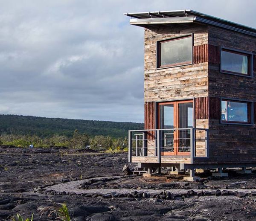
<instances>
[{"instance_id":1,"label":"sunlit pale wood siding surrounding the upstairs window above the french doors","mask_svg":"<svg viewBox=\"0 0 256 221\"><path fill-rule=\"evenodd\" d=\"M156 68L157 41L191 33L193 33L194 47L207 44L207 27L205 26L184 27L184 29L169 27L145 29L145 102L208 96L208 62Z\"/></svg>"}]
</instances>

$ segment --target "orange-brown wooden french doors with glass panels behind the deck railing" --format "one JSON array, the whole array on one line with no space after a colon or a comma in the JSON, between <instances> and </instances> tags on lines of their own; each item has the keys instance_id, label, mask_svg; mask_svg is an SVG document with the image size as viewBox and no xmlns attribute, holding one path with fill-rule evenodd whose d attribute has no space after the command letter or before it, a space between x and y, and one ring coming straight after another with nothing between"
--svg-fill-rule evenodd
<instances>
[{"instance_id":1,"label":"orange-brown wooden french doors with glass panels behind the deck railing","mask_svg":"<svg viewBox=\"0 0 256 221\"><path fill-rule=\"evenodd\" d=\"M189 155L192 127L192 100L158 103L158 128L173 129L161 131L162 155Z\"/></svg>"}]
</instances>

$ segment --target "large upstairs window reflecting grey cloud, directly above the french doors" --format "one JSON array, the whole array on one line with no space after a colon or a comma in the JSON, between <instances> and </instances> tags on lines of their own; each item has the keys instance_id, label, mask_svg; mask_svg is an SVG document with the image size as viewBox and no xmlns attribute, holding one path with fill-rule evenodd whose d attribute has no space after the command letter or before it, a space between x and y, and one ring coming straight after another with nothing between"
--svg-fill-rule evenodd
<instances>
[{"instance_id":1,"label":"large upstairs window reflecting grey cloud, directly above the french doors","mask_svg":"<svg viewBox=\"0 0 256 221\"><path fill-rule=\"evenodd\" d=\"M157 42L157 67L192 64L192 35Z\"/></svg>"}]
</instances>

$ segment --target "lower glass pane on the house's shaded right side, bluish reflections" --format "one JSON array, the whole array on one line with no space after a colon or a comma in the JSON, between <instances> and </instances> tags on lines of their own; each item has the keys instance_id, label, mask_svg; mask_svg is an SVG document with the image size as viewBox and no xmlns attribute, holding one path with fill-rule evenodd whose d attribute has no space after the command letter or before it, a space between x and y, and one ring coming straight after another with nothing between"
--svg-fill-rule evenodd
<instances>
[{"instance_id":1,"label":"lower glass pane on the house's shaded right side, bluish reflections","mask_svg":"<svg viewBox=\"0 0 256 221\"><path fill-rule=\"evenodd\" d=\"M231 122L249 122L248 103L221 101L221 119Z\"/></svg>"}]
</instances>

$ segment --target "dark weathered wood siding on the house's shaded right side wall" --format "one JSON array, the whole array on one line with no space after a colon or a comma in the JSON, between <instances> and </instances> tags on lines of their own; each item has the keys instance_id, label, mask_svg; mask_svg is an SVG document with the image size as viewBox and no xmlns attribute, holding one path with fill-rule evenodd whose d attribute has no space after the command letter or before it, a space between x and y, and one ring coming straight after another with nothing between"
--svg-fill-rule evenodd
<instances>
[{"instance_id":1,"label":"dark weathered wood siding on the house's shaded right side wall","mask_svg":"<svg viewBox=\"0 0 256 221\"><path fill-rule=\"evenodd\" d=\"M216 48L227 47L256 52L255 37L214 26L209 26L208 30L209 44L215 45ZM255 70L255 62L253 66ZM209 63L209 97L210 158L200 163L256 163L256 126L220 123L220 97L255 102L256 76L247 78L220 73L217 61Z\"/></svg>"}]
</instances>

